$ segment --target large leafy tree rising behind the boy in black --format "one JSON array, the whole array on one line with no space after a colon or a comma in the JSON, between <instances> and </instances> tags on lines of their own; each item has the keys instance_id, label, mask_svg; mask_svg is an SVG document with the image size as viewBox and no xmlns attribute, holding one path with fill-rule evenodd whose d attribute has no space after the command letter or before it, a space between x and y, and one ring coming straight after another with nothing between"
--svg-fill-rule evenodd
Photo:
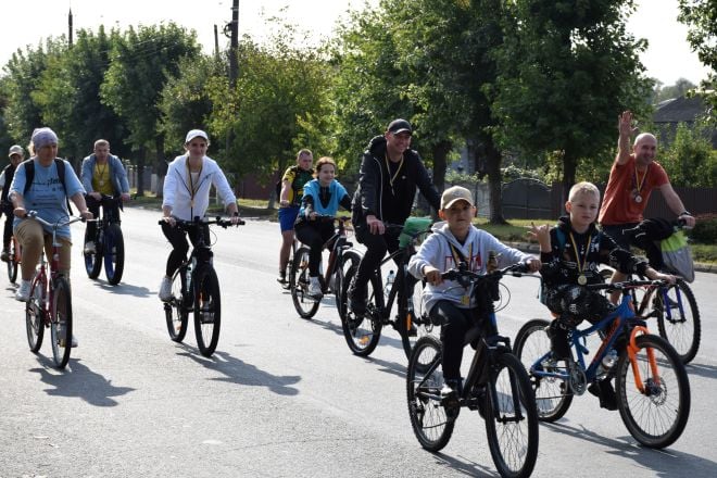
<instances>
[{"instance_id":1,"label":"large leafy tree rising behind the boy in black","mask_svg":"<svg viewBox=\"0 0 717 478\"><path fill-rule=\"evenodd\" d=\"M559 152L563 189L580 161L614 149L624 110L646 115L651 89L638 54L643 40L625 29L631 0L516 0L504 15L492 91L504 148L544 158Z\"/></svg>"}]
</instances>

